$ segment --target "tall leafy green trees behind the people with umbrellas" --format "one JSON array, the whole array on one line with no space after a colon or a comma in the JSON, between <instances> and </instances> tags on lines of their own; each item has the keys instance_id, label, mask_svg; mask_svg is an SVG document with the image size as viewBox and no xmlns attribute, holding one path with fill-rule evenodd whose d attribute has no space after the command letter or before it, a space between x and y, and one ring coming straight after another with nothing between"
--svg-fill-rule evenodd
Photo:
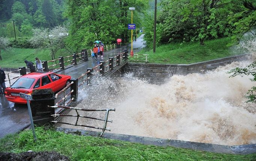
<instances>
[{"instance_id":1,"label":"tall leafy green trees behind the people with umbrellas","mask_svg":"<svg viewBox=\"0 0 256 161\"><path fill-rule=\"evenodd\" d=\"M121 36L127 39L127 24L131 22L129 7L136 6L134 23L139 26L139 12L147 4L148 0L67 0L66 16L71 20L68 44L78 50L91 46L95 40L108 44Z\"/></svg>"}]
</instances>

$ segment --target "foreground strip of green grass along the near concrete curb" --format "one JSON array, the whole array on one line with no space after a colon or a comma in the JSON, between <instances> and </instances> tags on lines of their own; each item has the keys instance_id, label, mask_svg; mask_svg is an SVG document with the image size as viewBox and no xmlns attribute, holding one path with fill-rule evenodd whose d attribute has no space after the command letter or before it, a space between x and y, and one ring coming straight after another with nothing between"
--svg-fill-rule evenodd
<instances>
[{"instance_id":1,"label":"foreground strip of green grass along the near concrete curb","mask_svg":"<svg viewBox=\"0 0 256 161\"><path fill-rule=\"evenodd\" d=\"M101 137L65 134L47 127L36 127L36 136L35 143L31 130L8 135L0 140L0 152L57 151L74 161L253 161L256 159L256 154L216 154L170 146L142 145Z\"/></svg>"}]
</instances>

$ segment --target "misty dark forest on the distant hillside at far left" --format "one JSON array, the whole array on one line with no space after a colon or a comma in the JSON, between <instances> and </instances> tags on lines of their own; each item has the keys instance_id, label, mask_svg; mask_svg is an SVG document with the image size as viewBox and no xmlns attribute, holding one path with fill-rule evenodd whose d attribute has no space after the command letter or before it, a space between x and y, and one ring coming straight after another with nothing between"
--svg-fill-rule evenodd
<instances>
[{"instance_id":1,"label":"misty dark forest on the distant hillside at far left","mask_svg":"<svg viewBox=\"0 0 256 161\"><path fill-rule=\"evenodd\" d=\"M29 29L36 27L52 28L63 24L66 20L62 16L64 0L1 0L0 1L0 30L10 30L6 24L14 19L15 29L24 36L30 36ZM9 20L8 20L9 19ZM8 36L0 32L0 36Z\"/></svg>"}]
</instances>

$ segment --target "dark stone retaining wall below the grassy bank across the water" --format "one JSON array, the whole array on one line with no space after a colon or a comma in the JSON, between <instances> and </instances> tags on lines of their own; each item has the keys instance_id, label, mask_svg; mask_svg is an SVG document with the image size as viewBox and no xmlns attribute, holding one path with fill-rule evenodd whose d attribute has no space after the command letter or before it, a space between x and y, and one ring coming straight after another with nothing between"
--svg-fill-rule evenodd
<instances>
[{"instance_id":1,"label":"dark stone retaining wall below the grassy bank across the water","mask_svg":"<svg viewBox=\"0 0 256 161\"><path fill-rule=\"evenodd\" d=\"M151 83L163 82L166 78L174 74L186 75L190 73L204 73L216 69L218 66L224 66L234 61L248 59L248 55L236 55L211 61L193 63L193 64L138 64L128 63L125 71L132 71L136 76L148 78Z\"/></svg>"}]
</instances>

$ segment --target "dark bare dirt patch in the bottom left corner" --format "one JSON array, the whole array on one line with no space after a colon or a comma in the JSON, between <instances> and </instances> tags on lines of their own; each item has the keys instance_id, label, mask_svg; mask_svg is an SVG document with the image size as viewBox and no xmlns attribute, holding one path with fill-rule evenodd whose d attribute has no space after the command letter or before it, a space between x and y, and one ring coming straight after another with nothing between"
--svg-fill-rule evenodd
<instances>
[{"instance_id":1,"label":"dark bare dirt patch in the bottom left corner","mask_svg":"<svg viewBox=\"0 0 256 161\"><path fill-rule=\"evenodd\" d=\"M0 161L69 161L69 158L57 152L0 152Z\"/></svg>"}]
</instances>

